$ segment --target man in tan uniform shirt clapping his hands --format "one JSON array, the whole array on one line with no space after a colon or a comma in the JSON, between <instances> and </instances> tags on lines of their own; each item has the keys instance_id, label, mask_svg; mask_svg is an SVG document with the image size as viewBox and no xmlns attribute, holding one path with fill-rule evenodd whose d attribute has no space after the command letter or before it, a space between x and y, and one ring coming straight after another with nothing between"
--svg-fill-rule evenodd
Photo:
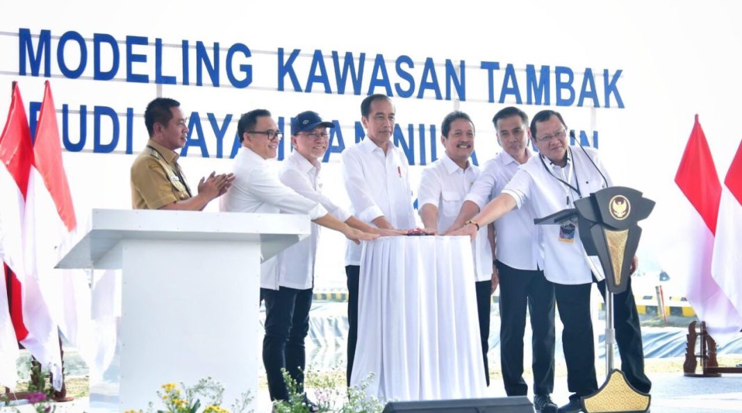
<instances>
[{"instance_id":1,"label":"man in tan uniform shirt clapping his hands","mask_svg":"<svg viewBox=\"0 0 742 413\"><path fill-rule=\"evenodd\" d=\"M214 172L201 178L193 196L177 163L174 151L183 148L188 135L180 103L157 98L144 113L149 133L147 148L131 165L131 205L134 209L173 209L200 211L211 199L226 193L234 181L232 174Z\"/></svg>"}]
</instances>

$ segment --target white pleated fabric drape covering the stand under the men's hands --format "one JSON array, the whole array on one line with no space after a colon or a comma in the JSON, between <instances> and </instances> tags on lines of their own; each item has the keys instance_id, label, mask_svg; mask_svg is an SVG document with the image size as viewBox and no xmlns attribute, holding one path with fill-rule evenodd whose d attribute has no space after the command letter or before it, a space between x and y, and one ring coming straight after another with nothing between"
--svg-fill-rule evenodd
<instances>
[{"instance_id":1,"label":"white pleated fabric drape covering the stand under the men's hands","mask_svg":"<svg viewBox=\"0 0 742 413\"><path fill-rule=\"evenodd\" d=\"M382 400L485 394L471 254L468 237L364 242L352 385L373 373Z\"/></svg>"}]
</instances>

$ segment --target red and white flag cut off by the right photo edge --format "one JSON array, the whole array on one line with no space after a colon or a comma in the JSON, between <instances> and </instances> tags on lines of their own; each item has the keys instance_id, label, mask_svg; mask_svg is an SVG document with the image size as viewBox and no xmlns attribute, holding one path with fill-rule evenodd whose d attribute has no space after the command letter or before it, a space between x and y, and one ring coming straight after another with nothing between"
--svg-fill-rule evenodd
<instances>
[{"instance_id":1,"label":"red and white flag cut off by the right photo edge","mask_svg":"<svg viewBox=\"0 0 742 413\"><path fill-rule=\"evenodd\" d=\"M742 316L742 142L721 187L712 274ZM740 326L736 326L739 331Z\"/></svg>"}]
</instances>

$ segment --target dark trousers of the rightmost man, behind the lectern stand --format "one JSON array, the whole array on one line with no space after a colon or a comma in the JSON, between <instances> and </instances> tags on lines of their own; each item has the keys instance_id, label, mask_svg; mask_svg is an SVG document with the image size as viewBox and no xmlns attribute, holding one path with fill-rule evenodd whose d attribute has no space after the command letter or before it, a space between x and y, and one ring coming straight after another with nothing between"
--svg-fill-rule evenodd
<instances>
[{"instance_id":1,"label":"dark trousers of the rightmost man, behind the lectern stand","mask_svg":"<svg viewBox=\"0 0 742 413\"><path fill-rule=\"evenodd\" d=\"M597 284L605 300L605 281ZM593 325L590 319L591 285L592 283L554 284L559 318L564 325L562 345L567 362L567 386L574 393L570 396L571 399L591 394L598 389ZM634 389L649 393L651 381L644 374L642 332L634 293L631 291L631 278L626 291L614 295L614 327L621 355L621 370L626 374L626 380Z\"/></svg>"}]
</instances>

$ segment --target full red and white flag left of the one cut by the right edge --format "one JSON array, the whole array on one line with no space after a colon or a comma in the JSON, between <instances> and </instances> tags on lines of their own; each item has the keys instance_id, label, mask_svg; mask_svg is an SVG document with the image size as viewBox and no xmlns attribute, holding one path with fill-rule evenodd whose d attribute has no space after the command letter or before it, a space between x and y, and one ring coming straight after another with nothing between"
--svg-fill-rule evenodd
<instances>
[{"instance_id":1,"label":"full red and white flag left of the one cut by the right edge","mask_svg":"<svg viewBox=\"0 0 742 413\"><path fill-rule=\"evenodd\" d=\"M742 316L712 277L711 263L721 185L706 135L695 119L675 183L688 201L677 205L680 217L672 260L664 263L669 274L686 280L686 298L698 318L706 322L709 334L726 343L742 328Z\"/></svg>"}]
</instances>

